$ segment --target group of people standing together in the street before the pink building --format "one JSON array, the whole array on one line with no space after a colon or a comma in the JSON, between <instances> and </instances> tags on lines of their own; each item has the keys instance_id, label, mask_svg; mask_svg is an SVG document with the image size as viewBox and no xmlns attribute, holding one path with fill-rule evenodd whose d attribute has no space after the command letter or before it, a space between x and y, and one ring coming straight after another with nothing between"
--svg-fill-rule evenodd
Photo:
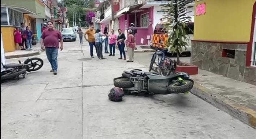
<instances>
[{"instance_id":1,"label":"group of people standing together in the street before the pink building","mask_svg":"<svg viewBox=\"0 0 256 139\"><path fill-rule=\"evenodd\" d=\"M107 27L105 27L103 33L101 33L100 29L97 29L95 31L94 26L91 25L90 29L84 33L84 38L89 42L90 55L92 58L94 58L93 56L93 46L94 46L97 52L97 57L99 59L105 59L103 57L103 43L104 43L105 45L104 53L110 53L109 56L115 56L115 48L118 48L120 52L120 58L118 59L124 59L124 60L126 60L126 54L125 54L125 46L126 46L127 53L129 55L129 60L127 62L133 62L134 49L136 49L136 40L135 40L136 32L137 31L136 31L136 28L134 27L134 24L131 23L127 33L127 39L126 39L126 36L125 34L122 33L121 29L118 30L118 35L116 35L114 30L111 30L111 33L109 34ZM86 35L88 35L88 38L86 38ZM103 39L103 37L105 38ZM108 45L109 45L110 52L108 52Z\"/></svg>"}]
</instances>

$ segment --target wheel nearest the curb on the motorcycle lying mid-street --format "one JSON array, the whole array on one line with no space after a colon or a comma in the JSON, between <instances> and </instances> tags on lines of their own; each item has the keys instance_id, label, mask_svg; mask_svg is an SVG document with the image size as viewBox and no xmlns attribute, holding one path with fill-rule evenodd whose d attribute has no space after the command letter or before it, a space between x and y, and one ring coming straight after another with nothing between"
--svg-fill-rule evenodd
<instances>
[{"instance_id":1,"label":"wheel nearest the curb on the motorcycle lying mid-street","mask_svg":"<svg viewBox=\"0 0 256 139\"><path fill-rule=\"evenodd\" d=\"M184 80L181 84L173 82L168 86L170 93L185 93L193 88L194 82L191 80Z\"/></svg>"}]
</instances>

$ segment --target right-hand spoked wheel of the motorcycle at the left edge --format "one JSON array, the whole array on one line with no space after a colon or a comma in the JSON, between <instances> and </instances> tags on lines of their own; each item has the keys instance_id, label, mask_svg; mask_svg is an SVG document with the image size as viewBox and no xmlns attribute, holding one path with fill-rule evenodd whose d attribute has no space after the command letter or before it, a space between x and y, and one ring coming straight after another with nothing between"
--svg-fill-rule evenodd
<instances>
[{"instance_id":1,"label":"right-hand spoked wheel of the motorcycle at the left edge","mask_svg":"<svg viewBox=\"0 0 256 139\"><path fill-rule=\"evenodd\" d=\"M28 58L24 61L24 64L29 64L27 65L27 71L28 72L33 72L36 70L41 69L41 67L44 65L44 61L41 58Z\"/></svg>"}]
</instances>

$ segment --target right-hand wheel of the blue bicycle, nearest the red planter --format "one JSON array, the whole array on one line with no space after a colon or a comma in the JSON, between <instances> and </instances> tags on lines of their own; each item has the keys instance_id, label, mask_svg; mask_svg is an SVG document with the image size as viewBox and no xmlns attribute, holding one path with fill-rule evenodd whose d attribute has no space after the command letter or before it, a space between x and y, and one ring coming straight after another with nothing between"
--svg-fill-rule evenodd
<instances>
[{"instance_id":1,"label":"right-hand wheel of the blue bicycle, nearest the red planter","mask_svg":"<svg viewBox=\"0 0 256 139\"><path fill-rule=\"evenodd\" d=\"M171 64L172 61L170 58L164 58L164 60L160 63L160 73L162 76L168 76L171 73Z\"/></svg>"}]
</instances>

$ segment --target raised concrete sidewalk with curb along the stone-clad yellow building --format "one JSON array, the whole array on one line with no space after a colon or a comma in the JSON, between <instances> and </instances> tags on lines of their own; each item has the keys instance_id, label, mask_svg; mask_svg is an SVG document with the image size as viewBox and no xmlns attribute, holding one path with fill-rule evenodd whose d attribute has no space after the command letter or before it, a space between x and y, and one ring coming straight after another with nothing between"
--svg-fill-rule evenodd
<instances>
[{"instance_id":1,"label":"raised concrete sidewalk with curb along the stone-clad yellow building","mask_svg":"<svg viewBox=\"0 0 256 139\"><path fill-rule=\"evenodd\" d=\"M256 86L199 69L194 95L256 128ZM227 121L229 122L229 121Z\"/></svg>"}]
</instances>

